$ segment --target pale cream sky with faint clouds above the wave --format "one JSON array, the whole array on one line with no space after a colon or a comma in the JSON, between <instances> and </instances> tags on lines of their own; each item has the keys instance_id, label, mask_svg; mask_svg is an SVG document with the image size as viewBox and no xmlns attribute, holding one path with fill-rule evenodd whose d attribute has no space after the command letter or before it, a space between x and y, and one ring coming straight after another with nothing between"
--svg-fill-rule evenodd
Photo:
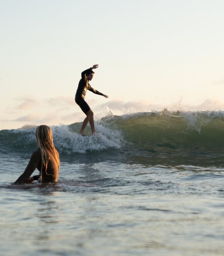
<instances>
[{"instance_id":1,"label":"pale cream sky with faint clouds above the wave","mask_svg":"<svg viewBox=\"0 0 224 256\"><path fill-rule=\"evenodd\" d=\"M224 110L223 0L0 0L0 130L108 110Z\"/></svg>"}]
</instances>

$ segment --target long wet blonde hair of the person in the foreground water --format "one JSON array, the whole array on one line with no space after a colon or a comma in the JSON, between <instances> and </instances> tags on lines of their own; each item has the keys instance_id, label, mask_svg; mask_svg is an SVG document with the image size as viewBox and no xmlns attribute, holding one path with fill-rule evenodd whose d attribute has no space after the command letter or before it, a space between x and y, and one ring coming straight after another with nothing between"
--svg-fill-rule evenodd
<instances>
[{"instance_id":1,"label":"long wet blonde hair of the person in the foreground water","mask_svg":"<svg viewBox=\"0 0 224 256\"><path fill-rule=\"evenodd\" d=\"M37 145L40 149L42 156L41 176L42 167L45 166L45 172L47 174L47 163L51 156L56 160L58 168L60 166L59 153L56 150L53 143L52 129L47 125L40 125L36 128L36 139Z\"/></svg>"}]
</instances>

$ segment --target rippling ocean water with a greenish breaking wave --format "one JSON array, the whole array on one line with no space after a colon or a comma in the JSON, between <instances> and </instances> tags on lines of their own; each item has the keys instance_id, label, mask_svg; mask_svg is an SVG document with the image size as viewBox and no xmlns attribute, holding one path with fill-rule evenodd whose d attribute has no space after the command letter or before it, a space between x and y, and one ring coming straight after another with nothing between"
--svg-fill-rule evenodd
<instances>
[{"instance_id":1,"label":"rippling ocean water with a greenish breaking wave","mask_svg":"<svg viewBox=\"0 0 224 256\"><path fill-rule=\"evenodd\" d=\"M80 125L52 127L56 184L14 185L35 127L0 130L1 256L224 255L223 111L111 115L96 137Z\"/></svg>"}]
</instances>

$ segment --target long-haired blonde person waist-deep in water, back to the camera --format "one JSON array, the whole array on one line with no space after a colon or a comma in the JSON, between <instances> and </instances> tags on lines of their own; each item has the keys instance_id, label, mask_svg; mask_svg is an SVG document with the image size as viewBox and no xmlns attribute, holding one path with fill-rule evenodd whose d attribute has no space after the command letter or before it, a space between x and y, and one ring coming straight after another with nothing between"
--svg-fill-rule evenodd
<instances>
[{"instance_id":1,"label":"long-haired blonde person waist-deep in water, back to the camera","mask_svg":"<svg viewBox=\"0 0 224 256\"><path fill-rule=\"evenodd\" d=\"M40 125L36 128L36 139L38 150L30 157L25 171L15 183L30 183L34 180L40 182L57 182L60 167L58 151L53 143L52 129L47 125ZM31 177L35 169L39 175Z\"/></svg>"}]
</instances>

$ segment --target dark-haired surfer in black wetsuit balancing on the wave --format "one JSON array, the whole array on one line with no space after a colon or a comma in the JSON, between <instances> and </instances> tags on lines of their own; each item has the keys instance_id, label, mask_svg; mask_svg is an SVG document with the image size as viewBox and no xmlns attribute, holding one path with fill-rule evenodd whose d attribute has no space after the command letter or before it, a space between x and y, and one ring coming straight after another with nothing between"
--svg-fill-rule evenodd
<instances>
[{"instance_id":1,"label":"dark-haired surfer in black wetsuit balancing on the wave","mask_svg":"<svg viewBox=\"0 0 224 256\"><path fill-rule=\"evenodd\" d=\"M89 90L92 93L102 95L103 97L108 98L107 95L95 90L89 84L89 81L92 80L92 78L95 74L93 69L98 68L98 66L99 65L95 64L92 67L90 67L82 72L82 78L80 79L80 81L78 83L78 89L75 94L75 102L78 104L78 106L80 106L82 111L86 114L86 118L84 119L84 121L82 123L82 127L80 129L80 134L82 134L82 135L84 135L84 129L85 129L86 125L88 124L88 122L90 122L92 134L96 133L94 119L93 119L93 111L90 109L90 106L85 101L86 91Z\"/></svg>"}]
</instances>

